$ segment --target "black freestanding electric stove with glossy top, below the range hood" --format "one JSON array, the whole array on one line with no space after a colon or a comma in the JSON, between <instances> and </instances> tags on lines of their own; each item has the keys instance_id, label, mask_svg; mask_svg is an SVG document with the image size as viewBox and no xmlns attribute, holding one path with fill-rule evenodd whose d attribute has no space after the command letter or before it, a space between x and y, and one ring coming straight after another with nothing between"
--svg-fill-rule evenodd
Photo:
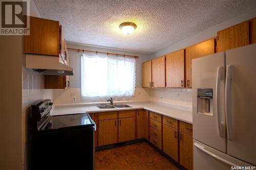
<instances>
[{"instance_id":1,"label":"black freestanding electric stove with glossy top, below the range hood","mask_svg":"<svg viewBox=\"0 0 256 170\"><path fill-rule=\"evenodd\" d=\"M94 169L95 123L88 113L51 116L52 105L31 106L31 169Z\"/></svg>"}]
</instances>

